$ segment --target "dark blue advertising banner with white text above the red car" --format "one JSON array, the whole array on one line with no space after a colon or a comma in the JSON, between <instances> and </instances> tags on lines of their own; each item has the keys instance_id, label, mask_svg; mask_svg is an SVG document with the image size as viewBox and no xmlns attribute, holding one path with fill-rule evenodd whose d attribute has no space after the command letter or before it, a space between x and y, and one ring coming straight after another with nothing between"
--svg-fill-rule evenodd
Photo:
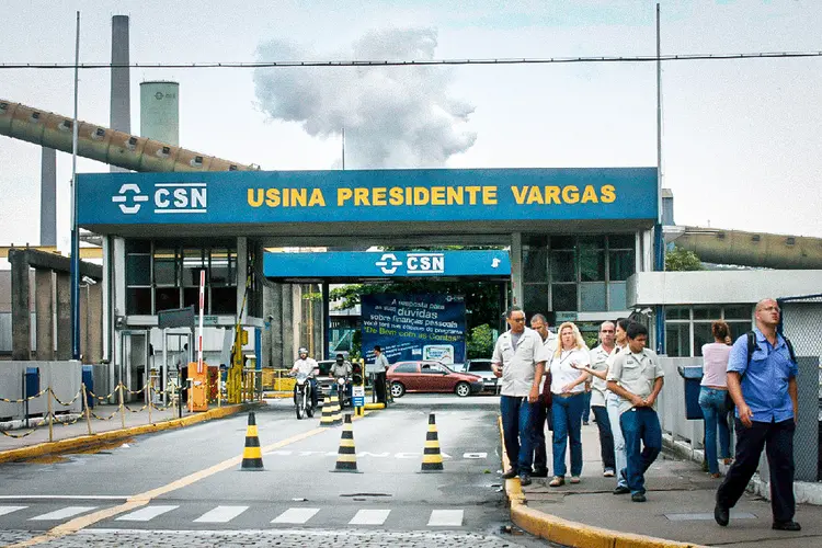
<instances>
[{"instance_id":1,"label":"dark blue advertising banner with white text above the red car","mask_svg":"<svg viewBox=\"0 0 822 548\"><path fill-rule=\"evenodd\" d=\"M363 354L374 363L379 345L388 362L465 362L465 298L461 295L363 295Z\"/></svg>"}]
</instances>

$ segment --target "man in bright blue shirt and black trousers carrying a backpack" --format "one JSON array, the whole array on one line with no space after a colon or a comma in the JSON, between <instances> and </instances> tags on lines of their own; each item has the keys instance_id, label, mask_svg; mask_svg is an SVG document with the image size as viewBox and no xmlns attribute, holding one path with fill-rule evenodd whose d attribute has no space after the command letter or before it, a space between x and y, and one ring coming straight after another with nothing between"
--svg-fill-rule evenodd
<instances>
[{"instance_id":1,"label":"man in bright blue shirt and black trousers carrying a backpack","mask_svg":"<svg viewBox=\"0 0 822 548\"><path fill-rule=\"evenodd\" d=\"M770 469L773 528L802 529L794 521L797 364L790 343L776 332L779 312L774 299L757 302L753 340L747 334L737 339L728 358L728 391L737 404L737 456L717 490L713 517L722 526L728 525L730 509L745 491L765 448Z\"/></svg>"}]
</instances>

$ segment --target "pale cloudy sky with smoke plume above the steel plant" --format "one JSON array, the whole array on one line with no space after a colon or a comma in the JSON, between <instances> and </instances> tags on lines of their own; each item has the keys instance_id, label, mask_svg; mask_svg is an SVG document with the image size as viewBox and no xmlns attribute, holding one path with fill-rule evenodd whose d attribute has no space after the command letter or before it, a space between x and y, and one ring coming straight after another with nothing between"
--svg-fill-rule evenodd
<instances>
[{"instance_id":1,"label":"pale cloudy sky with smoke plume above the steel plant","mask_svg":"<svg viewBox=\"0 0 822 548\"><path fill-rule=\"evenodd\" d=\"M0 62L487 59L655 54L646 0L5 0ZM822 2L661 1L663 54L822 50ZM25 24L23 24L25 22ZM71 70L0 69L0 99L72 115ZM180 144L265 170L657 164L653 62L416 68L133 68L180 82ZM110 73L79 117L109 125ZM663 64L663 186L680 225L822 237L822 58ZM71 157L58 153L58 244ZM79 172L107 171L80 159ZM0 136L0 244L39 238L39 148Z\"/></svg>"}]
</instances>

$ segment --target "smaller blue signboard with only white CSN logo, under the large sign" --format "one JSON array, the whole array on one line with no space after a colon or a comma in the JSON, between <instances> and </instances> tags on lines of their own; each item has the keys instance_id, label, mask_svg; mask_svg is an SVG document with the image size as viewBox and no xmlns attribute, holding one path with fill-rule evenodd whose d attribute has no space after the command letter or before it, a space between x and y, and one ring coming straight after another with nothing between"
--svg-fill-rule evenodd
<instances>
[{"instance_id":1,"label":"smaller blue signboard with only white CSN logo, under the large sign","mask_svg":"<svg viewBox=\"0 0 822 548\"><path fill-rule=\"evenodd\" d=\"M273 278L506 277L511 261L504 250L265 253L263 274Z\"/></svg>"}]
</instances>

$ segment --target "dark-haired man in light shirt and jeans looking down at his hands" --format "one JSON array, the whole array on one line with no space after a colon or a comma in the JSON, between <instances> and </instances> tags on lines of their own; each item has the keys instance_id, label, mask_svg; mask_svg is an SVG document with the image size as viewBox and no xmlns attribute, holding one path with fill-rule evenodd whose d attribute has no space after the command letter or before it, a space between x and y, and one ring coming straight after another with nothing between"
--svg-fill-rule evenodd
<instances>
[{"instance_id":1,"label":"dark-haired man in light shirt and jeans looking down at his hands","mask_svg":"<svg viewBox=\"0 0 822 548\"><path fill-rule=\"evenodd\" d=\"M628 453L625 473L631 501L646 502L644 473L662 450L662 429L657 397L665 374L657 353L646 349L648 328L631 322L626 331L628 347L608 368L608 390L619 396L619 424ZM642 447L644 446L644 447Z\"/></svg>"}]
</instances>

